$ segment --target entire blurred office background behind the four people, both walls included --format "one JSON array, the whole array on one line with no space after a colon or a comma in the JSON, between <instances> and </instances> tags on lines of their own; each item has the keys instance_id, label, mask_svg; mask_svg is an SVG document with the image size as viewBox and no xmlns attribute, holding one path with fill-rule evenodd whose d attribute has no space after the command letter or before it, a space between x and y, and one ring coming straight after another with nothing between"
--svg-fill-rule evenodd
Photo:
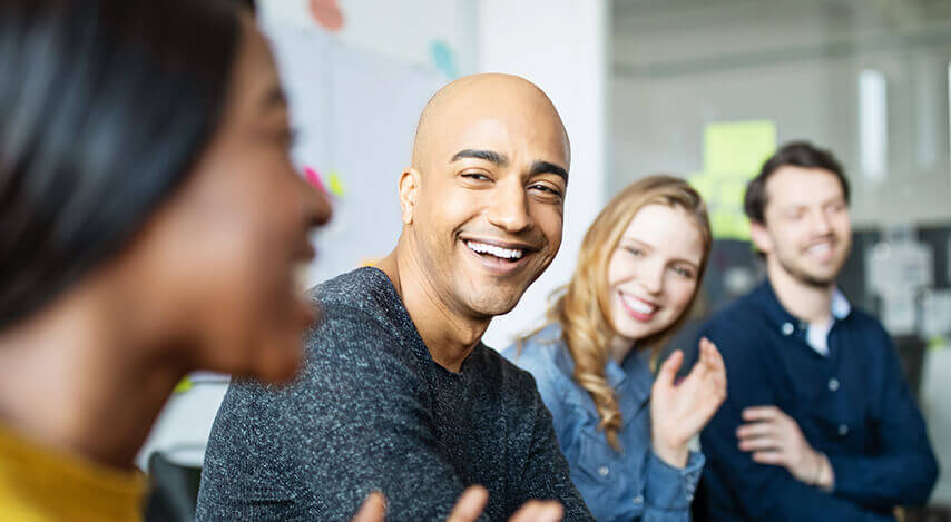
<instances>
[{"instance_id":1,"label":"entire blurred office background behind the four people, both walls included","mask_svg":"<svg viewBox=\"0 0 951 522\"><path fill-rule=\"evenodd\" d=\"M777 144L807 139L832 149L852 184L855 229L841 286L894 336L945 471L932 503L951 504L951 405L942 401L951 396L951 1L258 6L305 130L296 160L302 168L313 164L335 195L336 223L322 234L342 254L321 257L314 283L392 247L395 180L431 90L461 75L502 71L527 77L552 98L572 146L565 243L519 306L493 322L486 342L497 348L541 319L547 296L570 277L581 237L609 196L640 176L671 173L707 197L717 236L697 319L673 344L689 351L696 322L762 278L742 216L745 181ZM311 45L323 53L305 48ZM346 70L320 63L321 57ZM378 83L373 75L381 70L392 73ZM327 87L334 76L351 85ZM392 92L388 79L403 76L418 87ZM341 109L349 107L344 97L355 105L373 98L394 110L351 112ZM322 104L323 112L303 109ZM346 151L361 132L372 139L359 144L367 154L357 162ZM376 193L369 193L371 185ZM215 375L184 383L140 464L158 455L200 466L225 387Z\"/></svg>"}]
</instances>

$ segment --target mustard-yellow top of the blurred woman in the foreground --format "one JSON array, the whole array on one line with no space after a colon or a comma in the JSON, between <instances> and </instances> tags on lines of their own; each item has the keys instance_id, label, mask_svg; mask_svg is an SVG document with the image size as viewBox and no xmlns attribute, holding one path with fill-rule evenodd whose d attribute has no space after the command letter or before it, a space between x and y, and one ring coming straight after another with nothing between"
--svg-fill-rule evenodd
<instances>
[{"instance_id":1,"label":"mustard-yellow top of the blurred woman in the foreground","mask_svg":"<svg viewBox=\"0 0 951 522\"><path fill-rule=\"evenodd\" d=\"M139 521L145 475L42 447L0 424L0 521Z\"/></svg>"}]
</instances>

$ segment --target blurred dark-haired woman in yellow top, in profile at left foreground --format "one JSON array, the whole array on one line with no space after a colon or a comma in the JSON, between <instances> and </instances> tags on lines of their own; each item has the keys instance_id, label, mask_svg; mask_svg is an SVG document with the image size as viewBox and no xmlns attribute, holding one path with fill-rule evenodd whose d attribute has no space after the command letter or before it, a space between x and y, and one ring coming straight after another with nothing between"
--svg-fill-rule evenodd
<instances>
[{"instance_id":1,"label":"blurred dark-haired woman in yellow top, in profile at left foreground","mask_svg":"<svg viewBox=\"0 0 951 522\"><path fill-rule=\"evenodd\" d=\"M186 373L294 374L330 207L237 2L0 6L0 519L137 519Z\"/></svg>"}]
</instances>

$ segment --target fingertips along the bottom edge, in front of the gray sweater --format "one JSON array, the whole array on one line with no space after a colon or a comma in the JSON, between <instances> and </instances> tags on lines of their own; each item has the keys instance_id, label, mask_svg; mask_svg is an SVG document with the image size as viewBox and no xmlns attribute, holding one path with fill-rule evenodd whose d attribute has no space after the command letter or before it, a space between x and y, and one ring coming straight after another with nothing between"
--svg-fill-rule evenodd
<instances>
[{"instance_id":1,"label":"fingertips along the bottom edge, in front of the gray sweater","mask_svg":"<svg viewBox=\"0 0 951 522\"><path fill-rule=\"evenodd\" d=\"M488 501L489 492L481 485L467 489L452 508L447 522L474 522ZM381 493L374 492L363 501L352 522L383 522L385 515L386 501ZM558 522L561 515L561 504L558 502L533 500L526 502L509 522Z\"/></svg>"}]
</instances>

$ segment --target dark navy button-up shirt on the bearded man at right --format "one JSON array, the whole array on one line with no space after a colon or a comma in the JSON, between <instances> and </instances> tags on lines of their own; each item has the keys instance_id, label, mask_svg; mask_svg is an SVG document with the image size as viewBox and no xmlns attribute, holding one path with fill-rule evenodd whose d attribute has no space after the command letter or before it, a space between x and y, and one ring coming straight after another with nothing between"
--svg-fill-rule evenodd
<instances>
[{"instance_id":1,"label":"dark navy button-up shirt on the bearded man at right","mask_svg":"<svg viewBox=\"0 0 951 522\"><path fill-rule=\"evenodd\" d=\"M894 506L928 501L938 464L891 338L871 315L837 308L825 354L768 280L702 328L727 373L726 402L700 436L712 520L893 520ZM758 405L785 412L829 456L831 493L739 451L741 413Z\"/></svg>"}]
</instances>

